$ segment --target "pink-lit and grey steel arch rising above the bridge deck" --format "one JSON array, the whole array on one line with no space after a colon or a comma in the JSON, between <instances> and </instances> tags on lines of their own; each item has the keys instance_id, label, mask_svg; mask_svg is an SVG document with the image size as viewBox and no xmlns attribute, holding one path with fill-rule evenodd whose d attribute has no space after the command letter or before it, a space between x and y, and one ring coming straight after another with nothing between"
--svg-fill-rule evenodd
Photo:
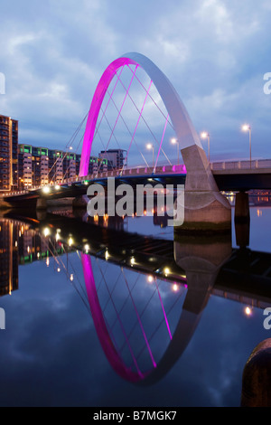
<instances>
[{"instance_id":1,"label":"pink-lit and grey steel arch rising above the bridge deck","mask_svg":"<svg viewBox=\"0 0 271 425\"><path fill-rule=\"evenodd\" d=\"M119 68L130 64L142 67L151 80L154 81L154 85L163 99L164 106L172 120L181 150L194 145L197 145L202 149L200 138L192 125L192 121L189 118L184 105L182 104L182 100L179 98L177 92L173 88L173 85L166 78L164 73L160 71L156 65L154 65L154 62L150 61L144 55L140 53L126 53L124 56L108 65L106 71L104 71L98 82L98 86L89 109L89 117L84 135L79 169L80 176L89 174L89 156L97 125L98 114L109 84Z\"/></svg>"}]
</instances>

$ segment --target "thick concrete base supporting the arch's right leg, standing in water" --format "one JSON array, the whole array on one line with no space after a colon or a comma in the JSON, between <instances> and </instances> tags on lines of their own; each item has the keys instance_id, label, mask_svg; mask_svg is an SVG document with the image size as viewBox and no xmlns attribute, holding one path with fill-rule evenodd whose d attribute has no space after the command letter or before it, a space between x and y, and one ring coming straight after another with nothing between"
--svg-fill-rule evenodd
<instances>
[{"instance_id":1,"label":"thick concrete base supporting the arch's right leg, standing in water","mask_svg":"<svg viewBox=\"0 0 271 425\"><path fill-rule=\"evenodd\" d=\"M182 149L187 175L184 191L184 222L181 231L230 231L231 207L220 194L205 152L193 145Z\"/></svg>"}]
</instances>

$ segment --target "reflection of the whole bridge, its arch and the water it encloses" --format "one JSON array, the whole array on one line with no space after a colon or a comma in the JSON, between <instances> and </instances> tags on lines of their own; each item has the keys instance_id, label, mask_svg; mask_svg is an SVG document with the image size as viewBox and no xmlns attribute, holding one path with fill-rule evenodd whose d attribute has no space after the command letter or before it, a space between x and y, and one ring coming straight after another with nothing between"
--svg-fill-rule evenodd
<instances>
[{"instance_id":1,"label":"reflection of the whole bridge, its arch and the water it encloses","mask_svg":"<svg viewBox=\"0 0 271 425\"><path fill-rule=\"evenodd\" d=\"M128 233L123 218L114 224L111 217L67 211L5 215L1 295L18 289L19 265L44 260L56 273L63 270L87 302L107 361L129 382L151 384L173 368L210 296L244 304L247 315L271 304L271 255L233 249L230 236L163 240Z\"/></svg>"}]
</instances>

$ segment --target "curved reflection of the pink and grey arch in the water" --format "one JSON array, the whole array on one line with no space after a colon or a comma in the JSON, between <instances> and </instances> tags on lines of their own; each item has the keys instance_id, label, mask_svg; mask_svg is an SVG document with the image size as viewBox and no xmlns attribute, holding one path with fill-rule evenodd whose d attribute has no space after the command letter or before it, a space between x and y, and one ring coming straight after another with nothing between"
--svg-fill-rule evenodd
<instances>
[{"instance_id":1,"label":"curved reflection of the pink and grey arch in the water","mask_svg":"<svg viewBox=\"0 0 271 425\"><path fill-rule=\"evenodd\" d=\"M159 381L182 355L199 323L201 314L194 314L182 309L182 314L174 332L173 339L167 347L164 356L157 364L157 367L154 367L153 370L150 370L147 373L142 373L140 371L135 373L131 369L127 368L123 363L123 360L117 354L115 345L108 333L103 312L98 301L98 294L91 266L91 258L88 254L82 253L81 260L92 319L100 345L107 356L109 364L111 364L112 368L119 374L119 376L129 382L152 384Z\"/></svg>"}]
</instances>

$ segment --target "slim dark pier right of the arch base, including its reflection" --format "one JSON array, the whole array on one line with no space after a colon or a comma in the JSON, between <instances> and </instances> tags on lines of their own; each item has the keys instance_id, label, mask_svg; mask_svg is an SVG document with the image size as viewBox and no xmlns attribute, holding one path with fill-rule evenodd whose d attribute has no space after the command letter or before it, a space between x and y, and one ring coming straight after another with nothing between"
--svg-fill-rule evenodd
<instances>
[{"instance_id":1,"label":"slim dark pier right of the arch base, including its reflection","mask_svg":"<svg viewBox=\"0 0 271 425\"><path fill-rule=\"evenodd\" d=\"M250 214L249 197L245 192L236 194L234 223L236 243L240 248L246 248L249 245Z\"/></svg>"}]
</instances>

